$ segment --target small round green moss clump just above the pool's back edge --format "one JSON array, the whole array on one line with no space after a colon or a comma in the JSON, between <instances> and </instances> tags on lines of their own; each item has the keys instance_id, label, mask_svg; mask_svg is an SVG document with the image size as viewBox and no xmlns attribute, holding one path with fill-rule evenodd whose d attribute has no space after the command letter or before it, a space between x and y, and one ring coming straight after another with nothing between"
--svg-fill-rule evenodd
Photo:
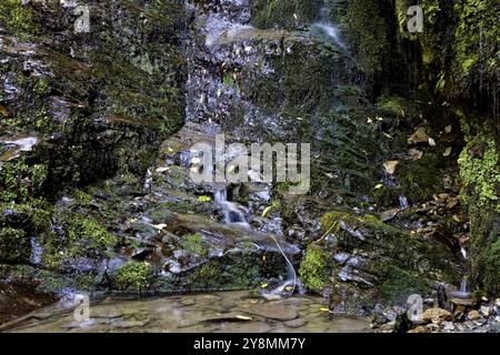
<instances>
[{"instance_id":1,"label":"small round green moss clump just above the pool's back edge","mask_svg":"<svg viewBox=\"0 0 500 355\"><path fill-rule=\"evenodd\" d=\"M118 268L116 283L121 291L141 292L149 287L152 270L146 263L130 262Z\"/></svg>"}]
</instances>

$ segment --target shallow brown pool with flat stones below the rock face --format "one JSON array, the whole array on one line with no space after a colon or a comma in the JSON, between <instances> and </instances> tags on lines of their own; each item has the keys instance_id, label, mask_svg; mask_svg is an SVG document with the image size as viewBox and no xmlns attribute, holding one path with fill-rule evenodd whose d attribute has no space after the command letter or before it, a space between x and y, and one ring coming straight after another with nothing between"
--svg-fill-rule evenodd
<instances>
[{"instance_id":1,"label":"shallow brown pool with flat stones below the rock face","mask_svg":"<svg viewBox=\"0 0 500 355\"><path fill-rule=\"evenodd\" d=\"M90 320L77 322L74 304L58 303L0 327L40 333L363 333L368 320L331 317L324 300L297 295L264 300L248 291L156 298L107 297L91 302Z\"/></svg>"}]
</instances>

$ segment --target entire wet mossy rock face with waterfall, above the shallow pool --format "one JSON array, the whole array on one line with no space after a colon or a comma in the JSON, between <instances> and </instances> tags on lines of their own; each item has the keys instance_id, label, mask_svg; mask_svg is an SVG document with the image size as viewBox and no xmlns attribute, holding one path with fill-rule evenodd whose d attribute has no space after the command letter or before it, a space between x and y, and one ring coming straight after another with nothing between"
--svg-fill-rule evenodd
<instances>
[{"instance_id":1,"label":"entire wet mossy rock face with waterfall, above the shallow pool","mask_svg":"<svg viewBox=\"0 0 500 355\"><path fill-rule=\"evenodd\" d=\"M497 135L463 116L460 135L431 90L400 97L419 87L401 78L429 75L383 61L403 52L397 2L389 16L374 0L106 0L89 31L71 4L2 2L2 278L58 293L247 288L290 278L283 253L332 312L360 314L459 282L471 232L477 286L498 292ZM192 146L220 133L310 143L309 192L193 182Z\"/></svg>"}]
</instances>

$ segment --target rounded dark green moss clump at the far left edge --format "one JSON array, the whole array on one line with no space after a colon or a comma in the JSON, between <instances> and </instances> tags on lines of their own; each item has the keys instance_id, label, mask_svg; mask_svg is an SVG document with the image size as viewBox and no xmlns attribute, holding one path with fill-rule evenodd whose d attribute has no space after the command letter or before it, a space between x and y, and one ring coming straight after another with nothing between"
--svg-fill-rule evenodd
<instances>
[{"instance_id":1,"label":"rounded dark green moss clump at the far left edge","mask_svg":"<svg viewBox=\"0 0 500 355\"><path fill-rule=\"evenodd\" d=\"M8 263L27 262L30 255L30 241L24 231L10 227L0 231L0 261Z\"/></svg>"}]
</instances>

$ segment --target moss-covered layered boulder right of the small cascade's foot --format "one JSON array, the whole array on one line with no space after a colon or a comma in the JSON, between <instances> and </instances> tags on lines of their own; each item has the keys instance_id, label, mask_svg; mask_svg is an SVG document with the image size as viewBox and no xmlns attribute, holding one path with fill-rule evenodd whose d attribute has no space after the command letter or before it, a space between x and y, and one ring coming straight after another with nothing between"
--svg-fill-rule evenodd
<instances>
[{"instance_id":1,"label":"moss-covered layered boulder right of the small cascade's foot","mask_svg":"<svg viewBox=\"0 0 500 355\"><path fill-rule=\"evenodd\" d=\"M324 237L310 247L314 263L308 253L302 265L304 271L309 264L320 267L316 278L322 276L313 285L330 293L332 307L359 310L377 301L403 304L412 294L429 294L437 282L460 277L450 250L376 216L336 211L324 214L321 225Z\"/></svg>"}]
</instances>

